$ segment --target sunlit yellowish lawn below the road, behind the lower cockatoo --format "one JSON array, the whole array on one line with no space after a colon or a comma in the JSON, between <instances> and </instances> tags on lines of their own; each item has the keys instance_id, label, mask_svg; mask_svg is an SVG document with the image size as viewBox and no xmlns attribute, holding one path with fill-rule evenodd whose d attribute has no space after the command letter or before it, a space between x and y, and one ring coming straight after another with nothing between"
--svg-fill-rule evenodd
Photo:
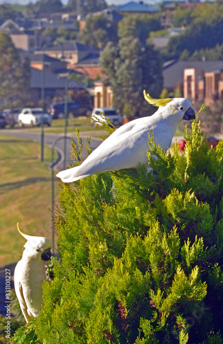
<instances>
[{"instance_id":1,"label":"sunlit yellowish lawn below the road, behind the lower cockatoo","mask_svg":"<svg viewBox=\"0 0 223 344\"><path fill-rule=\"evenodd\" d=\"M41 162L39 143L0 134L0 266L21 258L25 239L17 222L28 235L52 238L50 147L44 153ZM59 185L55 178L55 199Z\"/></svg>"}]
</instances>

